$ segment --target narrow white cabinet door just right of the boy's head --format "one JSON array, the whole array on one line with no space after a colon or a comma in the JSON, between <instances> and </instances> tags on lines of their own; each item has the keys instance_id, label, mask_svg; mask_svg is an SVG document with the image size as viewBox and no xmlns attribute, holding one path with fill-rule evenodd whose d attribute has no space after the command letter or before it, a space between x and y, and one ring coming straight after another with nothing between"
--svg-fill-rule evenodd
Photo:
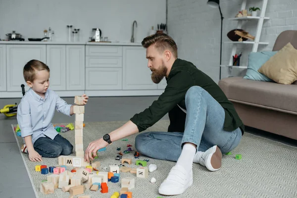
<instances>
[{"instance_id":1,"label":"narrow white cabinet door just right of the boy's head","mask_svg":"<svg viewBox=\"0 0 297 198\"><path fill-rule=\"evenodd\" d=\"M47 45L47 65L50 69L51 90L66 90L66 46Z\"/></svg>"}]
</instances>

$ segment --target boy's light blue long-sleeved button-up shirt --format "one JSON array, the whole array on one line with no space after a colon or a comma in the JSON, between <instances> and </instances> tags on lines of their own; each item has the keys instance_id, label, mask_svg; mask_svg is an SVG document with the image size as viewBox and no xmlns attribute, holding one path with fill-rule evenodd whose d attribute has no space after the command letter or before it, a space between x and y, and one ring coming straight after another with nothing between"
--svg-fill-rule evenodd
<instances>
[{"instance_id":1,"label":"boy's light blue long-sleeved button-up shirt","mask_svg":"<svg viewBox=\"0 0 297 198\"><path fill-rule=\"evenodd\" d=\"M32 143L41 137L54 139L58 132L51 124L55 109L70 116L71 104L67 104L54 91L47 90L45 99L31 88L21 99L17 107L17 122L22 137L32 135Z\"/></svg>"}]
</instances>

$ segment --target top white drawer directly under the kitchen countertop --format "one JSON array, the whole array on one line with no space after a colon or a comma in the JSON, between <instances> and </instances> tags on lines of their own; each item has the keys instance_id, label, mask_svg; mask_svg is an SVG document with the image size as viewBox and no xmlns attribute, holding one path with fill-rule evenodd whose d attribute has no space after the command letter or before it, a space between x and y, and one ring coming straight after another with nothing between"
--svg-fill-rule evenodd
<instances>
[{"instance_id":1,"label":"top white drawer directly under the kitchen countertop","mask_svg":"<svg viewBox=\"0 0 297 198\"><path fill-rule=\"evenodd\" d=\"M87 56L122 56L122 46L86 46Z\"/></svg>"}]
</instances>

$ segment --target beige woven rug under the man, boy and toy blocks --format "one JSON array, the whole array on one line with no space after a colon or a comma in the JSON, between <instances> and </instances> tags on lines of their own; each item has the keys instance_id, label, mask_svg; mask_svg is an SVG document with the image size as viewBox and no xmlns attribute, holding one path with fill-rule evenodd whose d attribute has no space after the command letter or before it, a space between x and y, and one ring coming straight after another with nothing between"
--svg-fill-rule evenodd
<instances>
[{"instance_id":1,"label":"beige woven rug under the man, boy and toy blocks","mask_svg":"<svg viewBox=\"0 0 297 198\"><path fill-rule=\"evenodd\" d=\"M84 149L89 143L102 135L120 127L125 122L93 122L86 123L84 128ZM167 120L161 120L147 131L166 131ZM66 123L68 124L68 123ZM13 127L13 126L12 126ZM15 134L15 133L14 133ZM61 133L73 145L74 131ZM137 135L137 134L136 134ZM99 160L102 171L104 166L119 165L115 160L118 150L127 149L126 145L135 145L135 136L128 137L128 141L117 141L107 147L106 151L100 152ZM23 144L23 139L17 137L19 146ZM75 148L74 148L75 150ZM136 159L133 153L124 154L123 157L133 158L133 165ZM297 198L297 148L290 147L265 138L257 137L245 133L238 148L232 151L233 155L223 156L223 167L217 172L209 172L205 167L194 164L194 183L180 196L176 198ZM242 154L242 159L235 159L235 154ZM47 179L48 175L35 172L35 165L44 164L49 166L58 165L57 158L43 158L43 163L31 162L27 154L21 154L26 165L29 177L32 182L36 197L39 198L68 198L69 193L63 193L61 189L56 189L54 194L43 195L40 193L40 183ZM166 197L158 194L160 183L166 178L169 170L175 164L170 161L155 160L145 156L140 156L141 160L149 159L148 165L154 163L157 170L149 173L148 178L137 178L135 174L121 173L120 179L125 177L135 178L135 188L131 190L133 198L156 198ZM69 167L67 167L69 168ZM71 169L70 169L71 170ZM52 173L49 173L52 174ZM156 183L150 183L150 179L156 178ZM120 191L121 183L108 182L108 194L101 194L100 191L85 191L85 195L92 198L110 198L115 191ZM75 196L78 197L78 196Z\"/></svg>"}]
</instances>

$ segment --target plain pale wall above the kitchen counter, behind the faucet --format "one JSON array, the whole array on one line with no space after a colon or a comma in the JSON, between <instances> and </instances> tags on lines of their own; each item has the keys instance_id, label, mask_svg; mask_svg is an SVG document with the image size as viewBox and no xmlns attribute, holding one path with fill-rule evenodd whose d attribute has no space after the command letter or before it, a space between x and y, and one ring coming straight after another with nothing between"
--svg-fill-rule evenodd
<instances>
[{"instance_id":1,"label":"plain pale wall above the kitchen counter, behind the faucet","mask_svg":"<svg viewBox=\"0 0 297 198\"><path fill-rule=\"evenodd\" d=\"M166 21L165 0L0 0L0 38L15 30L27 38L43 38L49 27L56 41L67 41L67 24L80 29L87 42L92 28L103 37L130 41L132 23L138 23L135 42L148 35L151 26Z\"/></svg>"}]
</instances>

